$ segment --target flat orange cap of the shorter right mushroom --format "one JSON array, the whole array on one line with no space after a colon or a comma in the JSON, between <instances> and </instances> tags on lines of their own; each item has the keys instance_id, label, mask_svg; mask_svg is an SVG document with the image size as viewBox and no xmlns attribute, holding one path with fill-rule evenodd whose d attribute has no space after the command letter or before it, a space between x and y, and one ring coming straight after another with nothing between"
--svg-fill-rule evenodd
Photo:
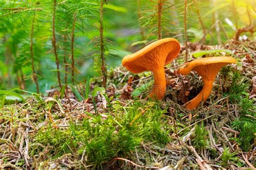
<instances>
[{"instance_id":1,"label":"flat orange cap of the shorter right mushroom","mask_svg":"<svg viewBox=\"0 0 256 170\"><path fill-rule=\"evenodd\" d=\"M196 60L192 60L190 62L184 63L184 65L180 67L179 73L182 75L188 75L190 74L191 70L194 69L195 67L197 67L197 69L200 69L200 67L198 66L206 66L206 65L213 65L213 64L219 65L220 63L221 64L237 63L237 61L231 56L213 56L213 57L196 59Z\"/></svg>"}]
</instances>

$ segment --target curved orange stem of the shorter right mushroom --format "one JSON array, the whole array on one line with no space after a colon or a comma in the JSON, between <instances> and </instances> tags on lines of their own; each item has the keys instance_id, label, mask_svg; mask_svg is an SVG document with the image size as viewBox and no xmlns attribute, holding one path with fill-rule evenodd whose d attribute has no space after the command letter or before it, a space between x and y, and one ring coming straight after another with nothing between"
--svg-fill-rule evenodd
<instances>
[{"instance_id":1,"label":"curved orange stem of the shorter right mushroom","mask_svg":"<svg viewBox=\"0 0 256 170\"><path fill-rule=\"evenodd\" d=\"M204 87L200 91L200 93L194 97L191 101L188 101L185 103L185 106L188 110L193 110L197 108L200 104L200 102L205 102L207 98L210 96L211 91L212 91L212 86L213 86L213 81L209 80L203 80L204 82Z\"/></svg>"}]
</instances>

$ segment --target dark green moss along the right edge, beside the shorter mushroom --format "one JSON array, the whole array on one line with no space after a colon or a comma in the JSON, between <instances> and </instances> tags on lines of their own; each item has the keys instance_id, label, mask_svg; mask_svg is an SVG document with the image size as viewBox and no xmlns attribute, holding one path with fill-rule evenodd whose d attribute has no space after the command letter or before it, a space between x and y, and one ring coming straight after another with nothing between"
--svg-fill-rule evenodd
<instances>
[{"instance_id":1,"label":"dark green moss along the right edge, beside the shorter mushroom","mask_svg":"<svg viewBox=\"0 0 256 170\"><path fill-rule=\"evenodd\" d=\"M243 151L252 148L253 133L256 132L255 105L254 101L249 98L248 87L245 77L238 71L234 71L228 95L230 95L230 102L239 107L240 117L233 122L233 128L240 132L235 140L238 141Z\"/></svg>"}]
</instances>

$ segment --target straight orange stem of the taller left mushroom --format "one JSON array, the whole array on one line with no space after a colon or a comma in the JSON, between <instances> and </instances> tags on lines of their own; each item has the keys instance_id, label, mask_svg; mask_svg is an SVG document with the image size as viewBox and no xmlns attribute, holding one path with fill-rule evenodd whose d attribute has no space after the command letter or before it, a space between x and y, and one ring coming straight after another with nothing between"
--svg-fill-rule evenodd
<instances>
[{"instance_id":1,"label":"straight orange stem of the taller left mushroom","mask_svg":"<svg viewBox=\"0 0 256 170\"><path fill-rule=\"evenodd\" d=\"M150 98L161 100L164 97L165 89L166 89L166 81L165 81L165 71L164 67L161 69L156 69L153 71L154 73L154 86L152 88L151 93L149 94Z\"/></svg>"}]
</instances>

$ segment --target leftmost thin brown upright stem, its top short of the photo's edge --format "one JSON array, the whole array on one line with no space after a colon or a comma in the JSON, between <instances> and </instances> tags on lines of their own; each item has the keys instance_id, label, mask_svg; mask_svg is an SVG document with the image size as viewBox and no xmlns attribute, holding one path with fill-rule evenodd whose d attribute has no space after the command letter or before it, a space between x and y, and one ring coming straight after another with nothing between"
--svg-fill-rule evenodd
<instances>
[{"instance_id":1,"label":"leftmost thin brown upright stem, its top short of the photo's edge","mask_svg":"<svg viewBox=\"0 0 256 170\"><path fill-rule=\"evenodd\" d=\"M35 18L36 18L36 14L34 15L34 17L32 19L32 25L31 25L30 58L31 58L31 67L32 67L32 72L33 72L33 81L35 81L36 90L37 90L37 93L39 93L39 86L38 86L38 82L37 82L37 75L36 75L36 69L35 69L35 65L34 65L34 54L33 54L33 32L34 32Z\"/></svg>"}]
</instances>

